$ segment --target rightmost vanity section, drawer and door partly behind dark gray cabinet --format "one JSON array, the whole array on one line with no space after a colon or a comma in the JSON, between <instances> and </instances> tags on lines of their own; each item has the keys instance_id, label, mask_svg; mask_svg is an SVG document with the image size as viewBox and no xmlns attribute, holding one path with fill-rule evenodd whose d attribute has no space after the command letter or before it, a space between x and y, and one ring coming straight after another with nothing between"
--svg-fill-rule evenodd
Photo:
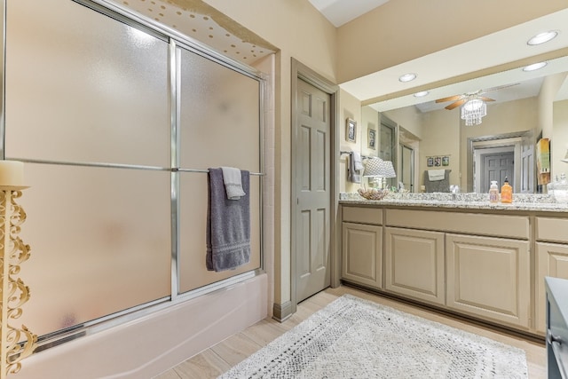
<instances>
[{"instance_id":1,"label":"rightmost vanity section, drawer and door partly behind dark gray cabinet","mask_svg":"<svg viewBox=\"0 0 568 379\"><path fill-rule=\"evenodd\" d=\"M536 218L535 326L546 331L545 277L568 279L568 219Z\"/></svg>"}]
</instances>

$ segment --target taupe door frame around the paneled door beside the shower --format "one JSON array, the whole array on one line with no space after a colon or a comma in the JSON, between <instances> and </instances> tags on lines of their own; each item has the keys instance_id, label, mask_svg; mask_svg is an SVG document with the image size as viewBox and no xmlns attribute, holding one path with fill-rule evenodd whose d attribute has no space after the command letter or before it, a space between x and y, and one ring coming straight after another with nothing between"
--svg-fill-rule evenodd
<instances>
[{"instance_id":1,"label":"taupe door frame around the paneled door beside the shower","mask_svg":"<svg viewBox=\"0 0 568 379\"><path fill-rule=\"evenodd\" d=\"M298 112L298 107L296 107L296 91L298 80L303 80L306 83L312 84L314 87L320 91L324 91L331 97L330 101L330 152L329 157L331 162L329 162L329 175L331 176L329 183L331 188L329 189L330 199L329 199L329 254L331 256L330 264L330 274L331 274L331 287L339 286L339 267L341 265L338 262L338 257L336 254L336 246L338 243L338 237L335 233L336 229L336 213L339 205L339 166L335 156L339 152L339 136L337 127L338 120L338 102L339 102L339 86L335 83L331 83L323 76L316 73L312 68L305 66L298 60L292 58L292 83L291 83L291 112L290 112L290 123L291 123L291 156L290 156L290 307L289 314L281 314L281 320L285 320L289 315L296 312L297 308L297 296L296 296L296 210L297 210L297 193L296 193L296 132L298 129L296 114ZM284 311L283 309L281 311Z\"/></svg>"}]
</instances>

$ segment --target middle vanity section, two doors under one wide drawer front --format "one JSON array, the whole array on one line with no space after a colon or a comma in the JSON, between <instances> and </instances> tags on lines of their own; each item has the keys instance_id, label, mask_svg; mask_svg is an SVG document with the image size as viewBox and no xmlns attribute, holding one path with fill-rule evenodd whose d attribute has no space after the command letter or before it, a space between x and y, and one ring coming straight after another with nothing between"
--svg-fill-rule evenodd
<instances>
[{"instance_id":1,"label":"middle vanity section, two doors under one wide drawer front","mask_svg":"<svg viewBox=\"0 0 568 379\"><path fill-rule=\"evenodd\" d=\"M529 217L387 209L385 225L387 289L477 318L530 328ZM393 240L389 237L392 230L404 232ZM391 241L397 243L389 244ZM389 257L406 259L390 263ZM410 268L412 260L414 269ZM401 273L406 270L411 270L409 275ZM389 272L412 278L422 288L413 288L410 284L414 282L398 284L400 280L390 279ZM426 287L428 275L430 286Z\"/></svg>"}]
</instances>

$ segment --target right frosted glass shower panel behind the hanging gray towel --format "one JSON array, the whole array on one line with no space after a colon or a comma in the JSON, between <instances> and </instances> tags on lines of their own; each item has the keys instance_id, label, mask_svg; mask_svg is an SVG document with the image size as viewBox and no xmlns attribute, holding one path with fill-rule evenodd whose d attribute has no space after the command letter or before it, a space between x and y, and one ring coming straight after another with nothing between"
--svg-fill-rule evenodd
<instances>
[{"instance_id":1,"label":"right frosted glass shower panel behind the hanging gray towel","mask_svg":"<svg viewBox=\"0 0 568 379\"><path fill-rule=\"evenodd\" d=\"M258 173L260 84L183 47L179 59L179 292L260 268L261 177L250 177L251 260L227 272L205 270L207 175L193 169L236 167ZM189 171L184 171L189 170Z\"/></svg>"}]
</instances>

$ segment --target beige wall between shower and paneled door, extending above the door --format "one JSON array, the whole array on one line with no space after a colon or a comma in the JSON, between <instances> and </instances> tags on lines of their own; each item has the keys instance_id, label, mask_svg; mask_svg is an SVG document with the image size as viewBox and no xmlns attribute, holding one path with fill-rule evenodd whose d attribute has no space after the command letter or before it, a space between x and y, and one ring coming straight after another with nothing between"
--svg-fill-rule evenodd
<instances>
[{"instance_id":1,"label":"beige wall between shower and paneled door, extending above the door","mask_svg":"<svg viewBox=\"0 0 568 379\"><path fill-rule=\"evenodd\" d=\"M307 1L206 0L244 28L262 36L280 51L276 62L274 303L286 304L290 294L290 83L291 58L336 82L335 28ZM342 128L340 117L339 128Z\"/></svg>"}]
</instances>

